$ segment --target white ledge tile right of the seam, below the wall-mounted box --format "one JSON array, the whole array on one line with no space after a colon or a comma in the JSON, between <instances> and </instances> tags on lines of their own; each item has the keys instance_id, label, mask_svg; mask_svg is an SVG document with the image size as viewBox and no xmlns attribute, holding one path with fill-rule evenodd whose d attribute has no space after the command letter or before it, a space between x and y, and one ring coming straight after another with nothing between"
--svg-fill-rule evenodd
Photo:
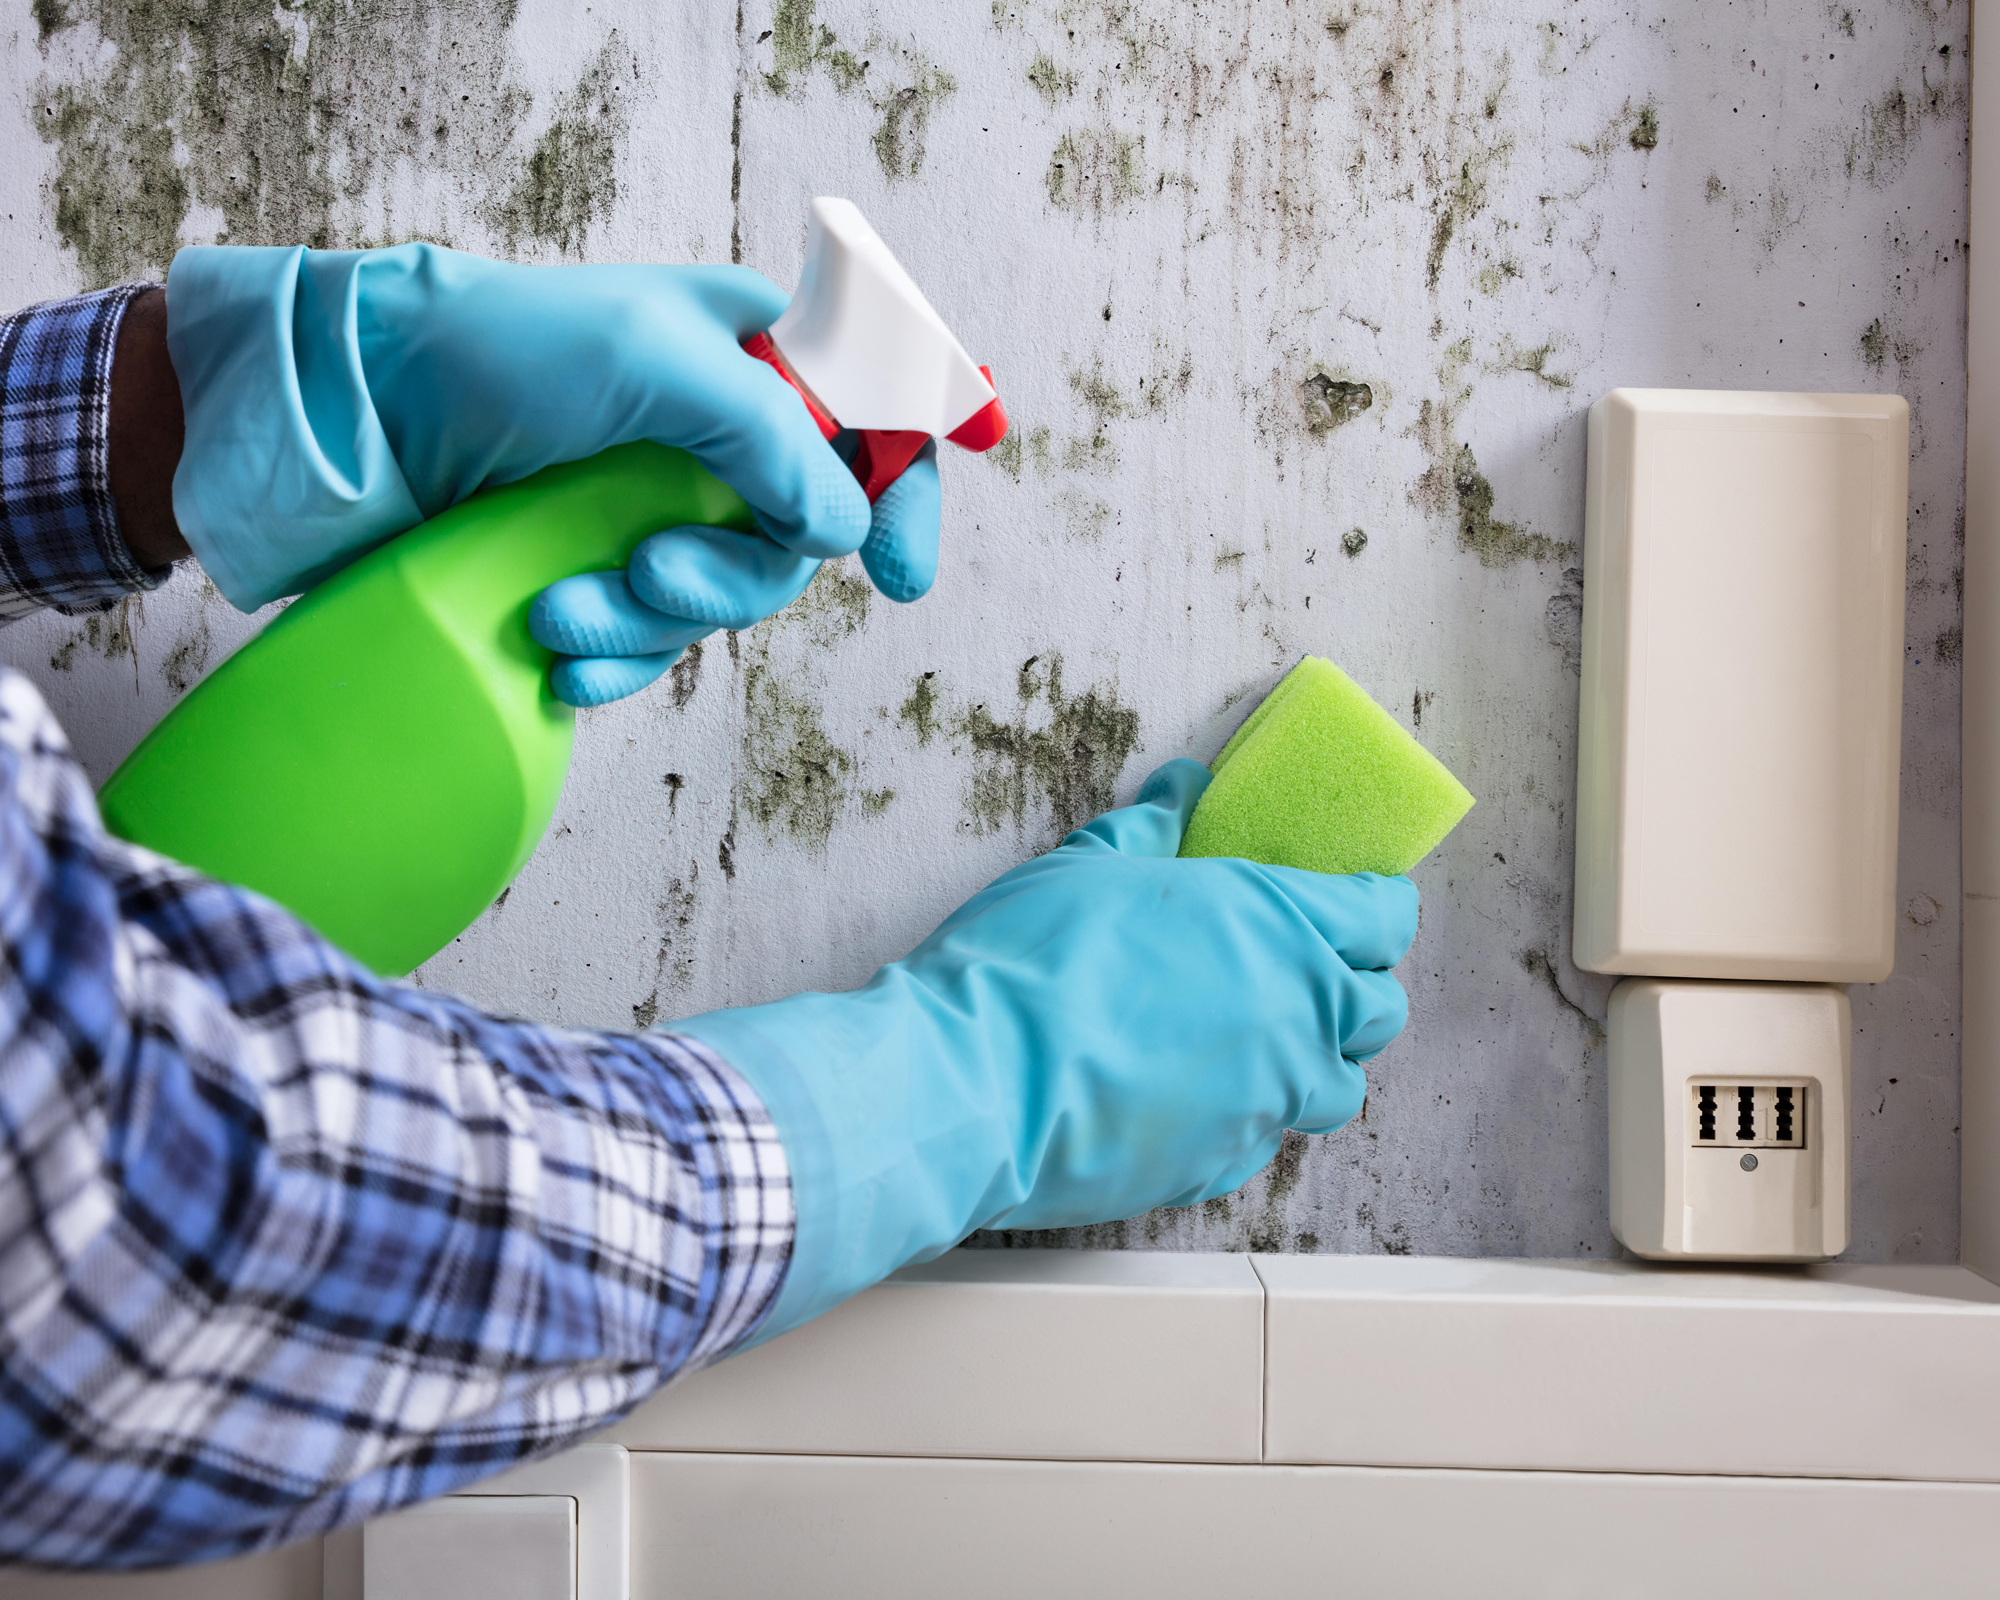
<instances>
[{"instance_id":1,"label":"white ledge tile right of the seam, below the wall-mounted box","mask_svg":"<svg viewBox=\"0 0 2000 1600\"><path fill-rule=\"evenodd\" d=\"M1252 1260L1266 1460L2000 1480L2000 1288L1960 1268Z\"/></svg>"}]
</instances>

